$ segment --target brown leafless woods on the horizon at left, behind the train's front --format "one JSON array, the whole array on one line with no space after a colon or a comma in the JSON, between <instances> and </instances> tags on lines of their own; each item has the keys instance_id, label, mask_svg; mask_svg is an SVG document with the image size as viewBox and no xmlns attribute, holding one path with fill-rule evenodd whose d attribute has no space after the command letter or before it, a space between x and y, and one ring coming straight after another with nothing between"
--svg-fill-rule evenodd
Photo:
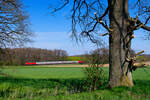
<instances>
[{"instance_id":1,"label":"brown leafless woods on the horizon at left, behind the train's front","mask_svg":"<svg viewBox=\"0 0 150 100\"><path fill-rule=\"evenodd\" d=\"M67 60L65 50L14 48L0 50L0 65L23 65L25 62Z\"/></svg>"}]
</instances>

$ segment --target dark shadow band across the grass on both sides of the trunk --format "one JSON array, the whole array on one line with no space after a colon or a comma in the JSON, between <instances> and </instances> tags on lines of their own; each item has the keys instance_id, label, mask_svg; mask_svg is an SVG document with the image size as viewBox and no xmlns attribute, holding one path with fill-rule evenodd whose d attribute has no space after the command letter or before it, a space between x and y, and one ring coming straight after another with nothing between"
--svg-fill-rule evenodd
<instances>
[{"instance_id":1,"label":"dark shadow band across the grass on both sides of the trunk","mask_svg":"<svg viewBox=\"0 0 150 100\"><path fill-rule=\"evenodd\" d=\"M12 77L0 77L0 84L10 83L17 86L29 86L32 88L71 88L79 91L85 91L86 87L85 79L28 79L28 78L12 78ZM134 87L143 88L150 87L150 80L134 80ZM107 88L107 80L105 80L103 87L99 89Z\"/></svg>"}]
</instances>

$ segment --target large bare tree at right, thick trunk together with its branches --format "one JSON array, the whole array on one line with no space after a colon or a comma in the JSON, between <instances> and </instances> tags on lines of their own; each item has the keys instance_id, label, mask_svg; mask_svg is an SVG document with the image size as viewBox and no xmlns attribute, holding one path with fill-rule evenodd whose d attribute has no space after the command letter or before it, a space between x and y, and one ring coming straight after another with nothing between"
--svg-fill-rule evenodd
<instances>
[{"instance_id":1,"label":"large bare tree at right, thick trunk together with its branches","mask_svg":"<svg viewBox=\"0 0 150 100\"><path fill-rule=\"evenodd\" d=\"M149 0L62 0L58 11L72 5L72 33L96 43L109 35L109 87L133 86L131 40L134 31L150 31ZM70 7L70 6L69 6ZM131 12L129 12L129 9ZM79 28L80 27L80 28ZM101 33L101 32L106 33Z\"/></svg>"}]
</instances>

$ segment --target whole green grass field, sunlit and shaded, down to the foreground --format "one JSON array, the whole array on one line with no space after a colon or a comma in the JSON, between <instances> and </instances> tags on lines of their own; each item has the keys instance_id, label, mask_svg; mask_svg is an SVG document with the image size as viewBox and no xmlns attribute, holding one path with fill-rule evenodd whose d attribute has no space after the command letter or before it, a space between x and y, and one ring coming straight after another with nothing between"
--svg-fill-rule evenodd
<instances>
[{"instance_id":1,"label":"whole green grass field, sunlit and shaded, down to the foreground","mask_svg":"<svg viewBox=\"0 0 150 100\"><path fill-rule=\"evenodd\" d=\"M150 69L139 68L133 72L133 88L107 89L105 83L89 92L83 68L18 66L2 70L0 100L150 100Z\"/></svg>"}]
</instances>

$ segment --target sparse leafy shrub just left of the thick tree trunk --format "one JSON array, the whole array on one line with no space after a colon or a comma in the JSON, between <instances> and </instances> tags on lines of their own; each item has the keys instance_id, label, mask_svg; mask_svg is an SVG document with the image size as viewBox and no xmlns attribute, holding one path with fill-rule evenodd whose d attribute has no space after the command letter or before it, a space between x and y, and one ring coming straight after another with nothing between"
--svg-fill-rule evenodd
<instances>
[{"instance_id":1,"label":"sparse leafy shrub just left of the thick tree trunk","mask_svg":"<svg viewBox=\"0 0 150 100\"><path fill-rule=\"evenodd\" d=\"M93 53L89 58L89 67L84 69L84 73L86 76L86 86L89 87L90 91L97 90L104 83L103 63L97 53Z\"/></svg>"}]
</instances>

